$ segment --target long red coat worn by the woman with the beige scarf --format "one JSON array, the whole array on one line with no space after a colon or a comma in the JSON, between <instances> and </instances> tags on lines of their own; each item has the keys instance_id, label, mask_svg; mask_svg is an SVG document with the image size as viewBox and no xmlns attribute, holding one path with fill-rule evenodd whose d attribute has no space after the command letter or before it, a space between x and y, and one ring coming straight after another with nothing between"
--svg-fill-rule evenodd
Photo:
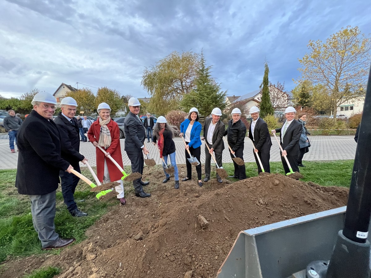
<instances>
[{"instance_id":1,"label":"long red coat worn by the woman with the beige scarf","mask_svg":"<svg viewBox=\"0 0 371 278\"><path fill-rule=\"evenodd\" d=\"M99 140L99 134L101 132L101 126L98 123L99 120L96 120L92 123L91 127L88 130L88 138L90 142L98 142ZM108 129L111 133L111 146L109 146L106 149L106 152L109 152L113 159L116 160L116 162L122 167L122 155L121 155L121 145L120 145L120 131L119 127L114 120L111 120L108 123ZM97 176L100 182L103 181L103 174L104 174L104 153L99 149L96 148L95 150L95 156L96 156L96 172ZM120 170L115 166L115 164L111 161L111 159L106 158L108 172L109 172L109 178L111 179L111 182L118 181L122 178L122 173Z\"/></svg>"}]
</instances>

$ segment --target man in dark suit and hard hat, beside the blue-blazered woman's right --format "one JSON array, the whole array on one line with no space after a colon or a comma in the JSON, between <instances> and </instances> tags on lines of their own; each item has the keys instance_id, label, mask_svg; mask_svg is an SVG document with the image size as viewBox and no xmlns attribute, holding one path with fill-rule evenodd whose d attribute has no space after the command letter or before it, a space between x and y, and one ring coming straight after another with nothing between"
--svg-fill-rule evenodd
<instances>
[{"instance_id":1,"label":"man in dark suit and hard hat, beside the blue-blazered woman's right","mask_svg":"<svg viewBox=\"0 0 371 278\"><path fill-rule=\"evenodd\" d=\"M210 179L210 160L211 154L214 152L216 163L219 167L221 164L221 154L224 150L223 135L226 130L224 123L220 120L221 110L219 108L214 108L211 112L211 118L207 118L204 124L204 137L201 140L205 140L205 178L204 182ZM207 149L206 144L209 146ZM217 181L222 183L220 176L216 173Z\"/></svg>"}]
</instances>

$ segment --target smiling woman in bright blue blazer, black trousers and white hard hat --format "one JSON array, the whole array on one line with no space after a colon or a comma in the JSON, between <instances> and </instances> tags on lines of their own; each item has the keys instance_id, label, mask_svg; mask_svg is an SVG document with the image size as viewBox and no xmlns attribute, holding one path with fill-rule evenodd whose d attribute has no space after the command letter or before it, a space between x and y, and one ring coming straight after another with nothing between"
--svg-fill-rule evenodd
<instances>
[{"instance_id":1,"label":"smiling woman in bright blue blazer, black trousers and white hard hat","mask_svg":"<svg viewBox=\"0 0 371 278\"><path fill-rule=\"evenodd\" d=\"M188 158L187 149L190 151L191 155L200 161L201 156L201 129L202 125L198 122L200 117L198 117L198 110L196 107L191 108L188 113L188 119L185 119L180 124L180 134L179 137L184 137L185 140L185 157ZM188 159L185 159L185 165L187 166L187 176L182 179L182 181L188 181L192 178L192 165L189 163ZM198 185L202 186L201 181L201 164L196 166Z\"/></svg>"}]
</instances>

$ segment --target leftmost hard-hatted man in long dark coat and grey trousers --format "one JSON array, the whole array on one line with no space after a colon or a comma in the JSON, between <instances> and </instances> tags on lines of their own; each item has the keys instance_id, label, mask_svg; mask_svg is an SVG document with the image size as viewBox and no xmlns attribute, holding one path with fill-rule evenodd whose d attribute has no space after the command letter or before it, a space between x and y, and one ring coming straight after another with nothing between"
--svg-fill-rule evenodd
<instances>
[{"instance_id":1,"label":"leftmost hard-hatted man in long dark coat and grey trousers","mask_svg":"<svg viewBox=\"0 0 371 278\"><path fill-rule=\"evenodd\" d=\"M58 249L75 239L62 239L55 232L54 218L59 170L73 167L60 156L60 133L52 116L57 104L49 93L37 93L33 109L18 131L16 188L31 200L33 226L42 249Z\"/></svg>"}]
</instances>

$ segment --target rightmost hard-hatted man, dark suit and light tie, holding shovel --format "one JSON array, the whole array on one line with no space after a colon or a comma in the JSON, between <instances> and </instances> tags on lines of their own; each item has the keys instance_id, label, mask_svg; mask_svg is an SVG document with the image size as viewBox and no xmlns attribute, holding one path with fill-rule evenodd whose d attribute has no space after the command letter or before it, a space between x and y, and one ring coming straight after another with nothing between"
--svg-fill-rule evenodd
<instances>
[{"instance_id":1,"label":"rightmost hard-hatted man, dark suit and light tie, holding shovel","mask_svg":"<svg viewBox=\"0 0 371 278\"><path fill-rule=\"evenodd\" d=\"M284 158L285 155L289 160L292 171L299 172L298 155L300 150L299 141L302 133L302 124L295 120L295 113L296 110L294 107L287 107L285 110L286 120L283 123L282 128L272 130L272 133L280 133L280 144L283 149L283 152L280 152L281 161L286 174L290 173L290 169Z\"/></svg>"}]
</instances>

